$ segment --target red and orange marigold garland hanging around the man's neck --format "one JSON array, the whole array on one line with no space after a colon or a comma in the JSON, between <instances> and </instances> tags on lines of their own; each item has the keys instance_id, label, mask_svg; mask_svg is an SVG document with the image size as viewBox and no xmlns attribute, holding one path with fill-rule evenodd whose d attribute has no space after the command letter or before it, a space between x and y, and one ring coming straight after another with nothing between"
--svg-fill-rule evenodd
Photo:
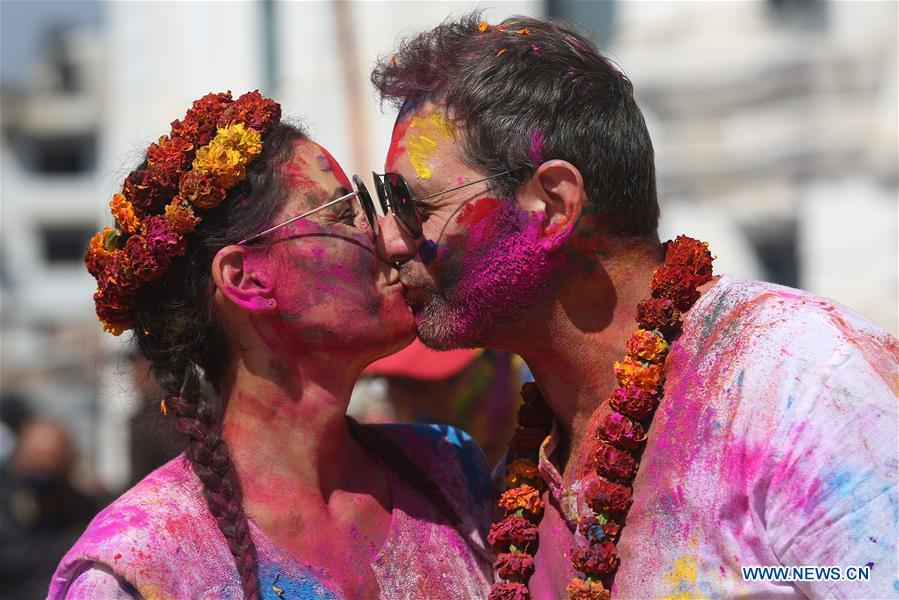
<instances>
[{"instance_id":1,"label":"red and orange marigold garland hanging around the man's neck","mask_svg":"<svg viewBox=\"0 0 899 600\"><path fill-rule=\"evenodd\" d=\"M574 600L609 600L618 569L616 542L630 510L634 477L646 431L662 398L664 362L680 334L683 314L699 298L699 287L712 279L708 244L686 236L666 243L665 262L653 273L652 295L637 305L637 329L627 355L613 365L618 387L609 399L612 412L594 432L594 472L580 481L586 499L578 517L571 561L578 576L568 584ZM506 491L499 500L506 517L487 537L497 552L494 568L505 582L495 583L491 600L527 600L534 572L542 515L544 481L537 470L540 446L552 426L552 412L534 383L521 390L518 428L509 446ZM598 409L597 409L598 410Z\"/></svg>"}]
</instances>

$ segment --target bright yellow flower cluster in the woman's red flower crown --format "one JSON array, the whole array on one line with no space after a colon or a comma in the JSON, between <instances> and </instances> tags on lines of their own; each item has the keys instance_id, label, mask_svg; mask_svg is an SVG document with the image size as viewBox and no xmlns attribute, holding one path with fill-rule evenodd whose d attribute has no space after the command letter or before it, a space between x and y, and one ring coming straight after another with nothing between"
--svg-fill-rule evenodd
<instances>
[{"instance_id":1,"label":"bright yellow flower cluster in the woman's red flower crown","mask_svg":"<svg viewBox=\"0 0 899 600\"><path fill-rule=\"evenodd\" d=\"M262 136L243 123L218 130L212 141L197 150L193 170L213 175L224 188L233 187L246 176L246 166L262 152Z\"/></svg>"}]
</instances>

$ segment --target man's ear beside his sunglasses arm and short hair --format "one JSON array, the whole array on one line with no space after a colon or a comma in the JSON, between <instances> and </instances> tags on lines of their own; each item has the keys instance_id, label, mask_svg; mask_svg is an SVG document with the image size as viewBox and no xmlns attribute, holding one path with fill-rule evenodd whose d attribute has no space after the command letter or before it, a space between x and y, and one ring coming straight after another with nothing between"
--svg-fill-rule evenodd
<instances>
[{"instance_id":1,"label":"man's ear beside his sunglasses arm and short hair","mask_svg":"<svg viewBox=\"0 0 899 600\"><path fill-rule=\"evenodd\" d=\"M543 202L544 248L555 251L571 237L587 202L580 170L565 160L550 160L534 172L533 191Z\"/></svg>"}]
</instances>

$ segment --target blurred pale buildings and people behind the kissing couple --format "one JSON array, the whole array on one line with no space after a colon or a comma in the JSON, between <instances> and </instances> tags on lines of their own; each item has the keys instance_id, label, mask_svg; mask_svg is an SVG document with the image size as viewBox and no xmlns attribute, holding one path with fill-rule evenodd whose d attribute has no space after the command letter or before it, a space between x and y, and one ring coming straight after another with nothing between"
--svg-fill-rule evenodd
<instances>
[{"instance_id":1,"label":"blurred pale buildings and people behind the kissing couple","mask_svg":"<svg viewBox=\"0 0 899 600\"><path fill-rule=\"evenodd\" d=\"M349 173L394 115L368 83L398 37L476 8L581 23L634 82L662 235L719 272L835 298L897 332L894 2L0 2L0 597L43 597L94 511L178 451L82 257L108 200L209 91L259 89ZM517 357L413 347L360 382L364 420L459 424L497 458Z\"/></svg>"}]
</instances>

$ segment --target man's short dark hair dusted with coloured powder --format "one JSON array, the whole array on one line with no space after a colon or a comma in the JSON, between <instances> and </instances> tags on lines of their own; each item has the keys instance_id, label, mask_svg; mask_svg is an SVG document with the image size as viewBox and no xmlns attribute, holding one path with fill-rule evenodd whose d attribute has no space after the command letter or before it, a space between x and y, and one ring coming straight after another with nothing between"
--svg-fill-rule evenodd
<instances>
[{"instance_id":1,"label":"man's short dark hair dusted with coloured powder","mask_svg":"<svg viewBox=\"0 0 899 600\"><path fill-rule=\"evenodd\" d=\"M445 104L463 160L518 168L500 190L507 197L540 163L563 159L584 178L589 212L623 236L655 233L652 141L633 86L571 25L516 16L487 27L471 13L404 40L371 81L397 107Z\"/></svg>"}]
</instances>

